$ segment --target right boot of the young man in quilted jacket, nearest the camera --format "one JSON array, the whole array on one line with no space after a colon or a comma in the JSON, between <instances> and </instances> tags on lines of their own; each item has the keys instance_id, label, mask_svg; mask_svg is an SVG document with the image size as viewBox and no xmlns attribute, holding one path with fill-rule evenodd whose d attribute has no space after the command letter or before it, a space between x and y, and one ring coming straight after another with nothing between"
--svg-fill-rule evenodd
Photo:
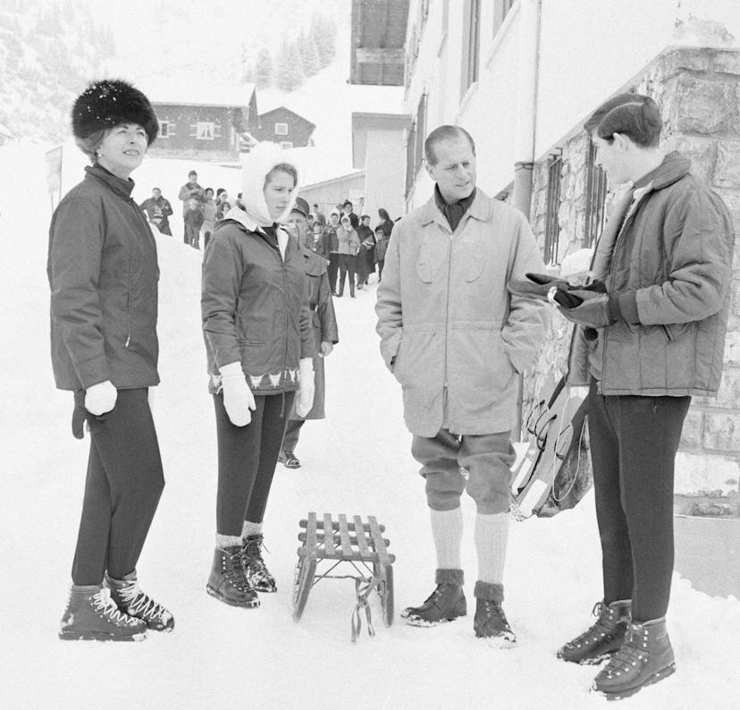
<instances>
[{"instance_id":1,"label":"right boot of the young man in quilted jacket, nearest the camera","mask_svg":"<svg viewBox=\"0 0 740 710\"><path fill-rule=\"evenodd\" d=\"M676 670L666 619L630 622L626 641L593 679L592 690L610 700L635 695Z\"/></svg>"}]
</instances>

